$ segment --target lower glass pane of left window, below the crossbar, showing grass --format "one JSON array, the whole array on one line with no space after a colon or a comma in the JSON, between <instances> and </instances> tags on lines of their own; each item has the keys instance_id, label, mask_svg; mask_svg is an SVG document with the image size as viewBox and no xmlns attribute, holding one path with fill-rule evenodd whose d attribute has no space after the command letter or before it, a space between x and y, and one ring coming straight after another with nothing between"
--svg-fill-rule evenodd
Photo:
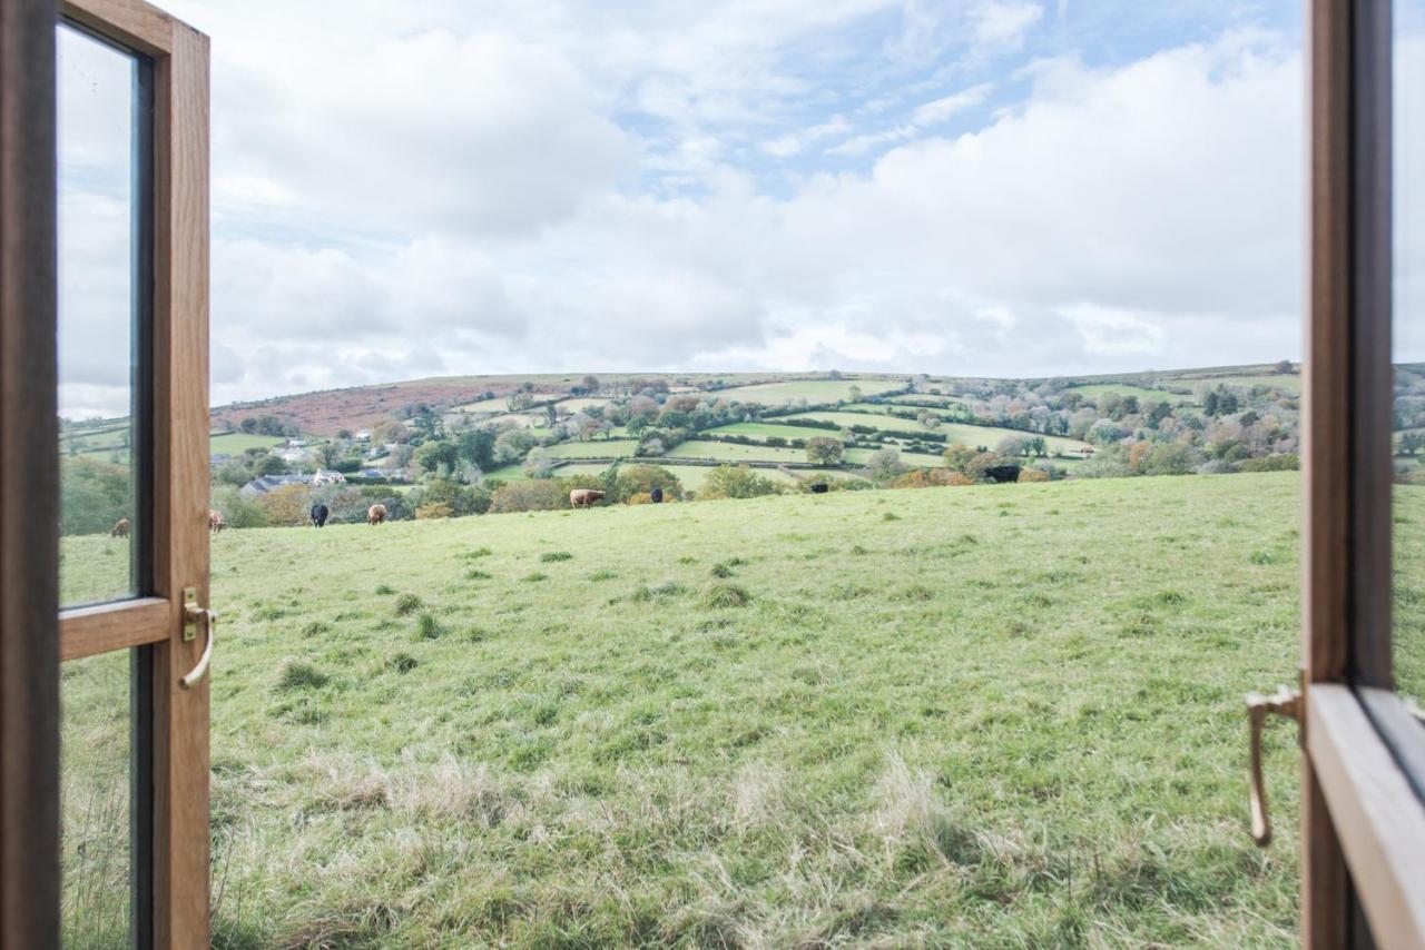
<instances>
[{"instance_id":1,"label":"lower glass pane of left window, below the crossbar, showing grass","mask_svg":"<svg viewBox=\"0 0 1425 950\"><path fill-rule=\"evenodd\" d=\"M128 943L130 651L67 662L60 813L64 946Z\"/></svg>"}]
</instances>

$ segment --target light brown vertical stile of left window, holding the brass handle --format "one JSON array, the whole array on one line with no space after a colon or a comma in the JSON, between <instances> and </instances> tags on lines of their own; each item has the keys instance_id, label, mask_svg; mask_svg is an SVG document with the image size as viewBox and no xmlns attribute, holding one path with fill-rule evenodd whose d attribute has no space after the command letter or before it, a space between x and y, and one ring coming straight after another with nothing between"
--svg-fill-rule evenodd
<instances>
[{"instance_id":1,"label":"light brown vertical stile of left window, holding the brass handle","mask_svg":"<svg viewBox=\"0 0 1425 950\"><path fill-rule=\"evenodd\" d=\"M208 602L208 38L172 24L154 63L154 583L182 625ZM202 637L154 654L154 944L208 946L208 681Z\"/></svg>"}]
</instances>

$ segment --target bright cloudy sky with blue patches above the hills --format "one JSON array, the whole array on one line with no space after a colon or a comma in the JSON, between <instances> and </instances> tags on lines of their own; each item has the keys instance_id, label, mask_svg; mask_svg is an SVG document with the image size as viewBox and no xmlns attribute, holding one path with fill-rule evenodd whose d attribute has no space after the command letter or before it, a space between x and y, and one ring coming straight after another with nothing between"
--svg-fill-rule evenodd
<instances>
[{"instance_id":1,"label":"bright cloudy sky with blue patches above the hills","mask_svg":"<svg viewBox=\"0 0 1425 950\"><path fill-rule=\"evenodd\" d=\"M164 6L212 38L214 403L1301 355L1298 0ZM97 95L83 43L60 57L71 416L127 400L124 340L81 303L127 301L123 127L84 147L127 87Z\"/></svg>"}]
</instances>

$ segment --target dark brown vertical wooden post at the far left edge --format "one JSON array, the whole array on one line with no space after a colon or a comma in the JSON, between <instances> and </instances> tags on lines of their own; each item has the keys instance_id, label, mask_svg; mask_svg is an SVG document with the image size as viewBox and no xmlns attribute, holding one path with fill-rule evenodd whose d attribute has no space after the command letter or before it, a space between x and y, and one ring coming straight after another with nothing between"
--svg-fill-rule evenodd
<instances>
[{"instance_id":1,"label":"dark brown vertical wooden post at the far left edge","mask_svg":"<svg viewBox=\"0 0 1425 950\"><path fill-rule=\"evenodd\" d=\"M60 941L53 0L0 1L0 946Z\"/></svg>"}]
</instances>

